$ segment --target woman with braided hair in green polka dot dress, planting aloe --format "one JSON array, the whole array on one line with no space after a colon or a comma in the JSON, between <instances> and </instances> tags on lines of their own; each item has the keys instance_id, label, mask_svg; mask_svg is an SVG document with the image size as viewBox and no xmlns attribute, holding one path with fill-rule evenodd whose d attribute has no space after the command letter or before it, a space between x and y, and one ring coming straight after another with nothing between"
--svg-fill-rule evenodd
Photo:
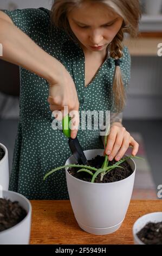
<instances>
[{"instance_id":1,"label":"woman with braided hair in green polka dot dress, planting aloe","mask_svg":"<svg viewBox=\"0 0 162 256\"><path fill-rule=\"evenodd\" d=\"M19 65L21 76L10 190L29 199L69 199L64 170L43 181L71 155L66 136L51 128L51 111L63 113L64 106L111 111L105 154L118 161L129 144L137 154L138 143L121 124L130 75L122 40L124 32L137 34L139 17L138 0L55 0L51 11L0 11L2 59ZM77 115L73 120L79 124ZM77 134L83 150L104 148L99 129L73 124L71 137Z\"/></svg>"}]
</instances>

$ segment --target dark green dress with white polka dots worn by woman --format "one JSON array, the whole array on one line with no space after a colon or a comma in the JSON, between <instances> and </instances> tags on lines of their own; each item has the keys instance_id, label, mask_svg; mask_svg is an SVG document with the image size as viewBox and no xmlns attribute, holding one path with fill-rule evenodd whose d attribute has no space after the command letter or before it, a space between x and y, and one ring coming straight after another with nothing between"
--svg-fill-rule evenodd
<instances>
[{"instance_id":1,"label":"dark green dress with white polka dots worn by woman","mask_svg":"<svg viewBox=\"0 0 162 256\"><path fill-rule=\"evenodd\" d=\"M38 46L66 67L75 82L80 118L81 111L115 112L112 97L115 66L112 58L107 56L93 80L85 87L85 56L82 48L70 40L66 32L51 27L49 10L3 11ZM125 47L124 57L121 58L125 88L129 81L130 63ZM43 181L43 176L49 170L64 165L72 155L62 130L54 130L51 126L54 118L47 102L49 84L44 78L22 67L20 78L20 121L9 190L21 193L28 199L69 199L64 169ZM104 148L100 129L79 129L77 137L83 150Z\"/></svg>"}]
</instances>

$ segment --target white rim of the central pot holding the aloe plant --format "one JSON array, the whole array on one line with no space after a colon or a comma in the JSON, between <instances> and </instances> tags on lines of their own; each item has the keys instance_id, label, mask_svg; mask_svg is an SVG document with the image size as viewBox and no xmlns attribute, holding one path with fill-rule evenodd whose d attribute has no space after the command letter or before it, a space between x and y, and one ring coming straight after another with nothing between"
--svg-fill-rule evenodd
<instances>
[{"instance_id":1,"label":"white rim of the central pot holding the aloe plant","mask_svg":"<svg viewBox=\"0 0 162 256\"><path fill-rule=\"evenodd\" d=\"M86 151L89 151L89 150L96 150L96 149L88 149L88 150L83 150L83 152L85 153ZM101 149L99 149L99 150L101 150ZM123 157L125 157L125 156L128 156L128 155L124 155ZM70 156L69 156L70 157ZM68 158L69 159L69 158ZM67 160L68 160L67 159ZM113 184L118 184L119 182L125 182L125 180L127 180L127 179L131 179L131 176L132 175L134 175L135 174L135 170L136 170L136 164L135 164L135 162L134 162L134 160L132 159L132 157L131 158L129 158L131 161L133 161L133 163L134 163L134 170L133 170L133 173L131 174L131 175L129 175L127 178L125 178L125 179L122 179L122 180L118 180L118 181L113 181L113 182L106 182L106 183L98 183L98 182L89 182L89 181L85 181L85 180L80 180L80 179L77 179L77 178L75 178L72 174L70 174L69 172L68 172L68 170L67 170L67 168L65 168L66 169L66 173L68 174L68 175L70 175L70 177L72 177L74 180L77 180L78 182L86 182L86 183L89 183L89 184L91 184L92 186L113 186ZM68 164L67 164L68 165ZM69 168L69 167L68 167Z\"/></svg>"}]
</instances>

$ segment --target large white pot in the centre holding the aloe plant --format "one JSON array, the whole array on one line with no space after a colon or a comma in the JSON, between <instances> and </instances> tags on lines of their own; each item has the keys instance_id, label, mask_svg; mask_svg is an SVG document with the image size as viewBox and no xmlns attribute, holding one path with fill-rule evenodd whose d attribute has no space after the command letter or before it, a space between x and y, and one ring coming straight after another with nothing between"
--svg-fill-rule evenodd
<instances>
[{"instance_id":1,"label":"large white pot in the centre holding the aloe plant","mask_svg":"<svg viewBox=\"0 0 162 256\"><path fill-rule=\"evenodd\" d=\"M103 149L85 150L87 160L103 155ZM80 228L95 235L106 235L120 228L131 200L135 162L127 162L133 173L126 179L110 183L92 183L75 178L66 168L70 203ZM66 164L76 163L70 156Z\"/></svg>"}]
</instances>

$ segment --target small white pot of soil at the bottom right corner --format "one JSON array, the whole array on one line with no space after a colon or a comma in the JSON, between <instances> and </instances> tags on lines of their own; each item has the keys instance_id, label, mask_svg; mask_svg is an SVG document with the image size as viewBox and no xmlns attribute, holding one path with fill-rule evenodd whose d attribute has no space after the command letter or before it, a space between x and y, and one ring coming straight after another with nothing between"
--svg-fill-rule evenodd
<instances>
[{"instance_id":1,"label":"small white pot of soil at the bottom right corner","mask_svg":"<svg viewBox=\"0 0 162 256\"><path fill-rule=\"evenodd\" d=\"M161 222L162 221L162 212L152 212L151 214L143 215L142 217L138 218L138 220L133 225L133 237L134 237L134 244L135 245L145 245L138 236L136 235L138 231L140 231L148 222Z\"/></svg>"}]
</instances>

